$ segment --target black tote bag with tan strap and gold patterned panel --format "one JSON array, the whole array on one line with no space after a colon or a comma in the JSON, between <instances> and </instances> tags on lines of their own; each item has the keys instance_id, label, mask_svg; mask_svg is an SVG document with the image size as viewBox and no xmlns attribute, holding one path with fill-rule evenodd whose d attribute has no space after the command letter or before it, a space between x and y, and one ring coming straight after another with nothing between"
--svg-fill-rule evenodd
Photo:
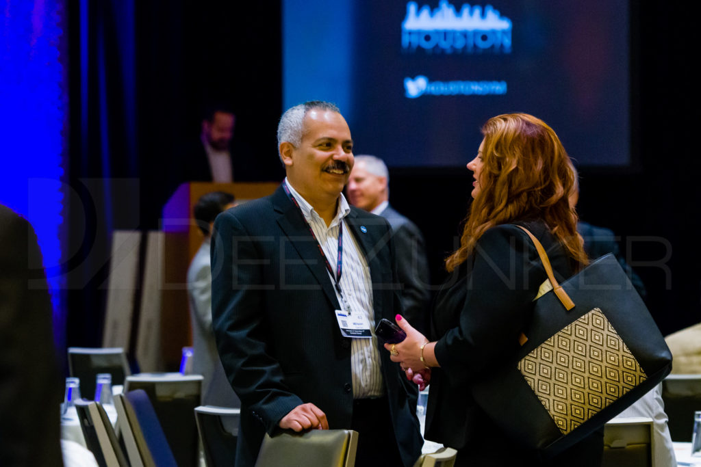
<instances>
[{"instance_id":1,"label":"black tote bag with tan strap and gold patterned panel","mask_svg":"<svg viewBox=\"0 0 701 467\"><path fill-rule=\"evenodd\" d=\"M515 358L472 386L477 404L526 449L554 456L653 389L672 354L612 254L557 284L531 232L553 290L535 302Z\"/></svg>"}]
</instances>

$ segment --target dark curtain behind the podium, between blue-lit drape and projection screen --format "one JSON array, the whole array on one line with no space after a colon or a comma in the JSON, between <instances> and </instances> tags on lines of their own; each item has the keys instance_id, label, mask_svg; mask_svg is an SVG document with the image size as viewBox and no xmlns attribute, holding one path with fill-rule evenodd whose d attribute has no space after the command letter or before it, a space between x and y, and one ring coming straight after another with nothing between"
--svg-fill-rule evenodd
<instances>
[{"instance_id":1,"label":"dark curtain behind the podium, between blue-lit drape and projection screen","mask_svg":"<svg viewBox=\"0 0 701 467\"><path fill-rule=\"evenodd\" d=\"M69 1L69 346L100 346L112 232L158 229L207 102L236 109L252 164L279 165L280 50L279 1Z\"/></svg>"}]
</instances>

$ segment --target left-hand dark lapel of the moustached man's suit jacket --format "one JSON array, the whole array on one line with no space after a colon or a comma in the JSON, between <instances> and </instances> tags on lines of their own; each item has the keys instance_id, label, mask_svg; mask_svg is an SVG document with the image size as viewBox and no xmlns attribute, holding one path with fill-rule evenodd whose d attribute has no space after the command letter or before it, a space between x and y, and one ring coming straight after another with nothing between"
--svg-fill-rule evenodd
<instances>
[{"instance_id":1,"label":"left-hand dark lapel of the moustached man's suit jacket","mask_svg":"<svg viewBox=\"0 0 701 467\"><path fill-rule=\"evenodd\" d=\"M285 194L282 186L278 187L271 199L275 211L278 212L278 225L285 232L287 240L292 244L299 257L311 270L327 298L335 309L339 309L339 300L336 298L334 286L326 270L324 258L322 258L314 238L309 232L309 227L299 209L292 204ZM281 250L284 253L284 249Z\"/></svg>"}]
</instances>

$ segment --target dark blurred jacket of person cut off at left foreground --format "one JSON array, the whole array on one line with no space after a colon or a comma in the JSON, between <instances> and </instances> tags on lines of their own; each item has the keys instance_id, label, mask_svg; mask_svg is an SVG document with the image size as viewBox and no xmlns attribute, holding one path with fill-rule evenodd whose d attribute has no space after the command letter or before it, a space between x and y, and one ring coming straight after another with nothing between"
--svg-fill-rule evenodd
<instances>
[{"instance_id":1,"label":"dark blurred jacket of person cut off at left foreground","mask_svg":"<svg viewBox=\"0 0 701 467\"><path fill-rule=\"evenodd\" d=\"M51 301L34 229L0 205L0 466L62 466Z\"/></svg>"}]
</instances>

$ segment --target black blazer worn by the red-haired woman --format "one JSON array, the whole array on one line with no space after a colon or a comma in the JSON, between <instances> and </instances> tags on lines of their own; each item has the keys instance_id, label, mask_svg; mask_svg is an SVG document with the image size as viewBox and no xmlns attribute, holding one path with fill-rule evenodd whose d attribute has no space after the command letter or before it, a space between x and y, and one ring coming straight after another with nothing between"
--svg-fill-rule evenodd
<instances>
[{"instance_id":1,"label":"black blazer worn by the red-haired woman","mask_svg":"<svg viewBox=\"0 0 701 467\"><path fill-rule=\"evenodd\" d=\"M543 244L556 279L570 277L569 257L545 224L523 225ZM545 279L526 233L516 225L498 225L482 235L476 252L437 295L432 318L440 368L432 372L426 438L460 449L461 461L470 465L540 465L537 453L519 452L517 440L510 442L479 408L470 384L518 351L519 335L533 312L532 300ZM593 448L576 445L571 449L575 459L566 452L558 461L567 463L559 465L597 465L600 436L598 447L597 440L593 442Z\"/></svg>"}]
</instances>

